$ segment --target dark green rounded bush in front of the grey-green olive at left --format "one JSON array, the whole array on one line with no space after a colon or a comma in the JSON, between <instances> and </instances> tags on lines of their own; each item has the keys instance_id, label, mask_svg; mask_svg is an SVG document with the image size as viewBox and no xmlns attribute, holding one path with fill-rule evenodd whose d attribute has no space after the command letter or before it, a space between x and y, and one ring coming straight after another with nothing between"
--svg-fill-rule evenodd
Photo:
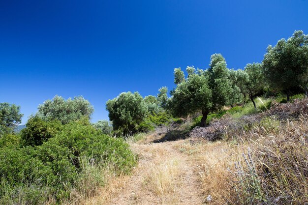
<instances>
[{"instance_id":1,"label":"dark green rounded bush in front of the grey-green olive at left","mask_svg":"<svg viewBox=\"0 0 308 205\"><path fill-rule=\"evenodd\" d=\"M21 141L25 146L38 146L49 138L54 137L59 131L62 130L62 124L58 120L45 121L40 117L31 117L26 128L22 129Z\"/></svg>"}]
</instances>

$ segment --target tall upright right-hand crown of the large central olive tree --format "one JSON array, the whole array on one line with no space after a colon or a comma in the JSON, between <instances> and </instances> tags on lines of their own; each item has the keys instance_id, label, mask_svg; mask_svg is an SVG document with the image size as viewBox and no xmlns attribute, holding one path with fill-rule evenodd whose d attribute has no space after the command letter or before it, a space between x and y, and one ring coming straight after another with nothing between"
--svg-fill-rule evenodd
<instances>
[{"instance_id":1,"label":"tall upright right-hand crown of the large central olive tree","mask_svg":"<svg viewBox=\"0 0 308 205\"><path fill-rule=\"evenodd\" d=\"M212 110L220 110L223 106L230 105L233 90L229 79L227 63L221 54L211 56L208 75L209 86L212 90Z\"/></svg>"}]
</instances>

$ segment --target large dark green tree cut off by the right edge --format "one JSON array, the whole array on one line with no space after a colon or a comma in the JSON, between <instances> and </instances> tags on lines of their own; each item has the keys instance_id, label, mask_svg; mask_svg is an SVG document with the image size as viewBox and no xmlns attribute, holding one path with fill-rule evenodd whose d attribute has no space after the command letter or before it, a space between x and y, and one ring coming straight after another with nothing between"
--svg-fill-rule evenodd
<instances>
[{"instance_id":1,"label":"large dark green tree cut off by the right edge","mask_svg":"<svg viewBox=\"0 0 308 205\"><path fill-rule=\"evenodd\" d=\"M264 74L270 86L287 95L293 89L304 88L308 83L308 35L295 31L288 40L269 45L263 59Z\"/></svg>"}]
</instances>

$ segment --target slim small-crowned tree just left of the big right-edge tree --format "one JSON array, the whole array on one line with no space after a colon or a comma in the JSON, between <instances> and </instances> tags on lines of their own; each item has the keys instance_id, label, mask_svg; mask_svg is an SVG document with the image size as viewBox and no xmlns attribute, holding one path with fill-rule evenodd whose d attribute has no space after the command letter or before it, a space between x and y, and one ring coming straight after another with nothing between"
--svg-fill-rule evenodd
<instances>
[{"instance_id":1,"label":"slim small-crowned tree just left of the big right-edge tree","mask_svg":"<svg viewBox=\"0 0 308 205\"><path fill-rule=\"evenodd\" d=\"M245 73L247 73L248 81L246 82L246 90L249 94L249 99L253 103L254 109L256 109L253 98L262 92L265 88L265 79L262 71L261 63L248 63L245 67Z\"/></svg>"}]
</instances>

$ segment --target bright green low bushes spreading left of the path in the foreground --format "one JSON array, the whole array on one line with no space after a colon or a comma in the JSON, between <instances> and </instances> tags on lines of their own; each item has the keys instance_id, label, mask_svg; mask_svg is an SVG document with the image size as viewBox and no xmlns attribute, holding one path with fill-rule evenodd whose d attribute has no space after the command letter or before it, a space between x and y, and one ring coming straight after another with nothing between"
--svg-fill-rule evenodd
<instances>
[{"instance_id":1,"label":"bright green low bushes spreading left of the path in the foreground","mask_svg":"<svg viewBox=\"0 0 308 205\"><path fill-rule=\"evenodd\" d=\"M42 198L68 197L70 187L80 186L80 177L87 171L85 159L95 166L112 167L119 174L135 166L136 157L128 144L103 135L89 120L61 126L61 131L40 146L0 147L0 202L16 202L15 195L29 198L32 204L41 203Z\"/></svg>"}]
</instances>

